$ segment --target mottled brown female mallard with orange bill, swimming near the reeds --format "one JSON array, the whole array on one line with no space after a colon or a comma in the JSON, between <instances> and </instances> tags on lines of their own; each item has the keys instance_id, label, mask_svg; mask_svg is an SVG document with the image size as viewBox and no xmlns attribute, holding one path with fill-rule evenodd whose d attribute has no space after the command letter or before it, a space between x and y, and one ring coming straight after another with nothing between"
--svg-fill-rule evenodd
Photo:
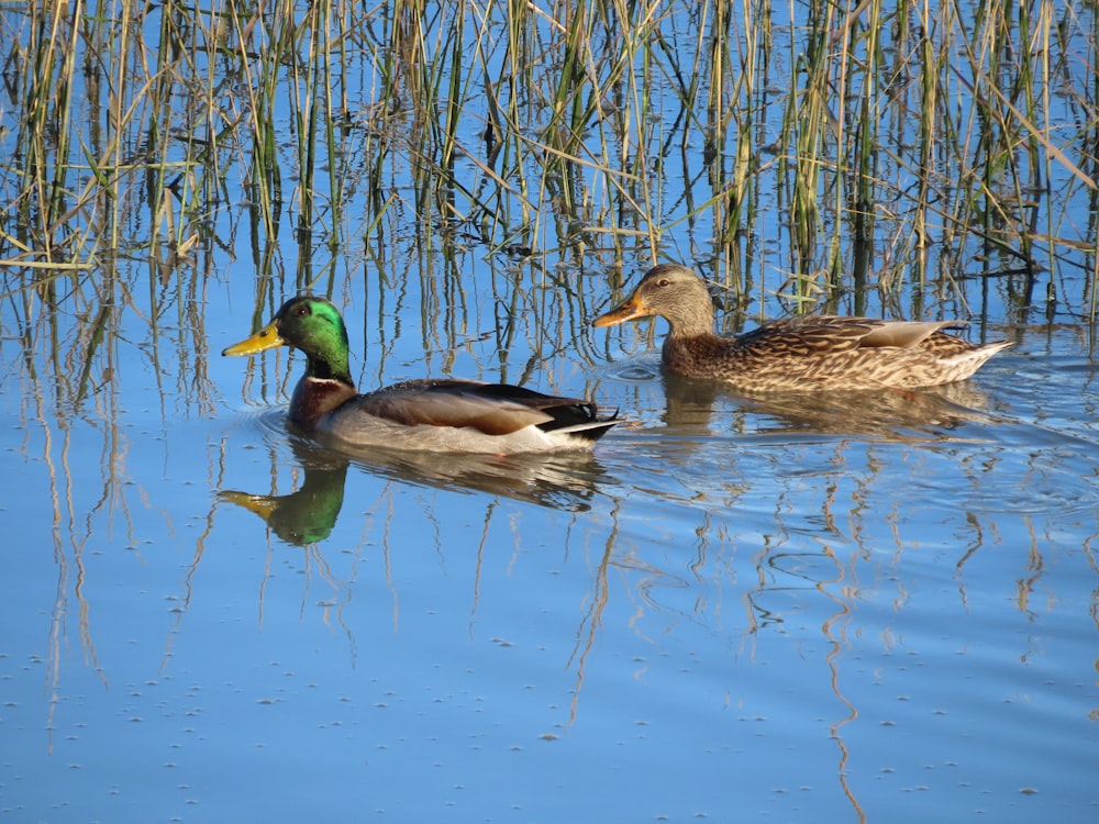
<instances>
[{"instance_id":1,"label":"mottled brown female mallard with orange bill, swimming near the reeds","mask_svg":"<svg viewBox=\"0 0 1099 824\"><path fill-rule=\"evenodd\" d=\"M678 264L653 267L617 309L596 319L612 326L660 315L670 325L664 363L688 378L744 390L912 389L965 380L1007 341L975 345L942 332L956 321L920 323L872 318L789 318L739 337L713 332L706 283Z\"/></svg>"}]
</instances>

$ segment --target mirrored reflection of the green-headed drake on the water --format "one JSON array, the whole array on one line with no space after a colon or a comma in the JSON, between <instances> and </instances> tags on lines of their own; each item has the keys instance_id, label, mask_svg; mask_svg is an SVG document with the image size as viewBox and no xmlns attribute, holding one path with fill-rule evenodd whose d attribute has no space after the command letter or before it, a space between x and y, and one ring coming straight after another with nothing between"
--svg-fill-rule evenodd
<instances>
[{"instance_id":1,"label":"mirrored reflection of the green-headed drake on the water","mask_svg":"<svg viewBox=\"0 0 1099 824\"><path fill-rule=\"evenodd\" d=\"M284 434L285 436L285 434ZM434 455L384 449L328 449L290 433L301 487L288 494L222 490L219 499L259 515L280 539L297 546L329 537L344 504L347 470L458 493L482 492L568 512L590 509L606 470L589 453L560 455Z\"/></svg>"}]
</instances>

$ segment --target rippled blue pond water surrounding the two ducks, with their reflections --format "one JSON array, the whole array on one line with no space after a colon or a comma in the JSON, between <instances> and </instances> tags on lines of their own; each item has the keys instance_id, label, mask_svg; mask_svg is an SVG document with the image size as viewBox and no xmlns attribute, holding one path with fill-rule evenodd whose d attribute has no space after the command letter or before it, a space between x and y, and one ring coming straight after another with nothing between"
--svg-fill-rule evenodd
<instances>
[{"instance_id":1,"label":"rippled blue pond water surrounding the two ducks, with their reflections","mask_svg":"<svg viewBox=\"0 0 1099 824\"><path fill-rule=\"evenodd\" d=\"M0 817L1099 815L1080 300L912 287L1014 347L939 390L751 398L662 375L660 324L590 327L646 249L521 260L391 215L384 263L370 236L318 265L364 389L521 381L624 420L590 456L346 455L285 426L300 357L218 355L299 286L284 255L323 257L284 230L253 266L226 210L164 280L2 272Z\"/></svg>"}]
</instances>

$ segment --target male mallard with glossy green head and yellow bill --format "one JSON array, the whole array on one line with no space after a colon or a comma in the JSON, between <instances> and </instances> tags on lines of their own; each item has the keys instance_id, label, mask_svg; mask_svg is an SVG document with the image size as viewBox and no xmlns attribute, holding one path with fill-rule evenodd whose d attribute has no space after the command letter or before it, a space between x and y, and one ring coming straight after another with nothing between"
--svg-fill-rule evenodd
<instances>
[{"instance_id":1,"label":"male mallard with glossy green head and yellow bill","mask_svg":"<svg viewBox=\"0 0 1099 824\"><path fill-rule=\"evenodd\" d=\"M323 298L301 296L222 355L255 355L276 346L306 353L306 375L289 417L302 431L351 446L511 454L581 449L617 423L596 404L507 383L410 380L359 394L351 379L347 330Z\"/></svg>"}]
</instances>

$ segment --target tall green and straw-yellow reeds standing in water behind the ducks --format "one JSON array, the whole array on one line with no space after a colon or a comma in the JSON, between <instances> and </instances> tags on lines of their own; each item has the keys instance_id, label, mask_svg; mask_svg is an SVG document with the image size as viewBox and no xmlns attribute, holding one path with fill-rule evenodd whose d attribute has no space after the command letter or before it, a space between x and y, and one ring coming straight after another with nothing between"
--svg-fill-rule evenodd
<instances>
[{"instance_id":1,"label":"tall green and straw-yellow reeds standing in water behind the ducks","mask_svg":"<svg viewBox=\"0 0 1099 824\"><path fill-rule=\"evenodd\" d=\"M384 280L403 243L424 267L475 248L543 279L687 260L744 312L874 290L918 312L997 279L1022 315L1061 300L1094 323L1096 18L984 0L4 4L3 291L70 291L119 261L164 288L249 254L268 294L287 244L295 286L331 290L364 255Z\"/></svg>"}]
</instances>

